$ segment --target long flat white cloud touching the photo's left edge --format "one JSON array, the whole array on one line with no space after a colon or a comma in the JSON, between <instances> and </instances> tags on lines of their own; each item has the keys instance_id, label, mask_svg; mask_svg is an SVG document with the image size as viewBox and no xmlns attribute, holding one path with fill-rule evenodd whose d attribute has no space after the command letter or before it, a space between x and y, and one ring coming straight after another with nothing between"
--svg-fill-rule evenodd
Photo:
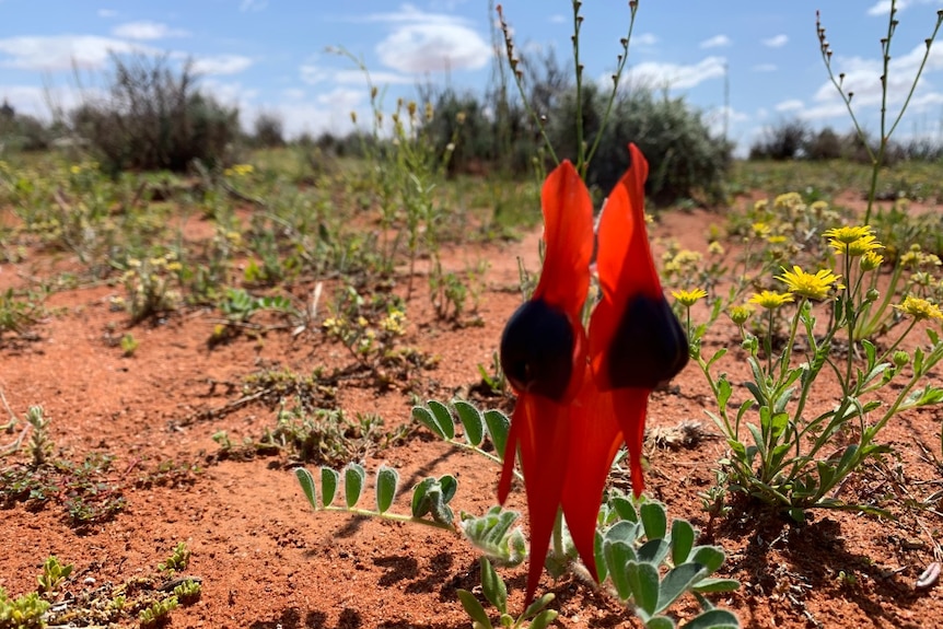
<instances>
[{"instance_id":1,"label":"long flat white cloud touching the photo's left edge","mask_svg":"<svg viewBox=\"0 0 943 629\"><path fill-rule=\"evenodd\" d=\"M158 50L124 39L95 35L24 36L0 39L0 66L24 70L68 70L73 63L83 69L103 67L109 53L156 54Z\"/></svg>"}]
</instances>

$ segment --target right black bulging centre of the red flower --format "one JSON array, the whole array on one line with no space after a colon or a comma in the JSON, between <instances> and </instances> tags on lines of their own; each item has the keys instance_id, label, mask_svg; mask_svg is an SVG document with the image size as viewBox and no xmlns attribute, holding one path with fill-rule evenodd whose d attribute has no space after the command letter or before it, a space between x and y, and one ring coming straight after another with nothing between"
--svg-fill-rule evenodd
<instances>
[{"instance_id":1,"label":"right black bulging centre of the red flower","mask_svg":"<svg viewBox=\"0 0 943 629\"><path fill-rule=\"evenodd\" d=\"M688 340L664 298L629 300L609 346L614 388L655 388L688 362Z\"/></svg>"}]
</instances>

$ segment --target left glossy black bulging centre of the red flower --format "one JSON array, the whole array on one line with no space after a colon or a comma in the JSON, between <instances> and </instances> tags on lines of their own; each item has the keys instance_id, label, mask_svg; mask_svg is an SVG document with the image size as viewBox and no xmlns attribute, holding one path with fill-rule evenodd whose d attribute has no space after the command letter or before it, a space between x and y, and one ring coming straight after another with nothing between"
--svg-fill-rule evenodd
<instances>
[{"instance_id":1,"label":"left glossy black bulging centre of the red flower","mask_svg":"<svg viewBox=\"0 0 943 629\"><path fill-rule=\"evenodd\" d=\"M542 300L519 307L501 335L501 369L517 392L560 400L573 372L573 329Z\"/></svg>"}]
</instances>

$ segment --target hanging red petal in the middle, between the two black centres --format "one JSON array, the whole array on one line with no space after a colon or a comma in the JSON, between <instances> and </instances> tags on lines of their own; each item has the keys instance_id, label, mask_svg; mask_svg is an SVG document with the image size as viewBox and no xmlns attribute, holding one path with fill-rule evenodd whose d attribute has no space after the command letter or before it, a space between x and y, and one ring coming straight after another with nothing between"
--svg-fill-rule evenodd
<instances>
[{"instance_id":1,"label":"hanging red petal in the middle, between the two black centres","mask_svg":"<svg viewBox=\"0 0 943 629\"><path fill-rule=\"evenodd\" d=\"M601 393L587 371L580 397L570 406L570 458L563 484L563 515L583 563L597 581L596 522L606 478L621 443L613 394Z\"/></svg>"}]
</instances>

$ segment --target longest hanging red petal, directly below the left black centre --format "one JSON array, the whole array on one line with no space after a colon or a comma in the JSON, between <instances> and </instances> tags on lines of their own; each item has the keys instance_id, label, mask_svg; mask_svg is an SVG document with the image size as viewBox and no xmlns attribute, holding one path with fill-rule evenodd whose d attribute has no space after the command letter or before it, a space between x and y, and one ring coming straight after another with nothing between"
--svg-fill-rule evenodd
<instances>
[{"instance_id":1,"label":"longest hanging red petal, directly below the left black centre","mask_svg":"<svg viewBox=\"0 0 943 629\"><path fill-rule=\"evenodd\" d=\"M525 605L534 598L534 592L540 581L563 492L571 441L568 416L567 405L557 404L539 395L519 396L517 406L514 408L512 428L517 428L521 443L521 468L524 473L524 488L527 490L527 516L531 522L531 558Z\"/></svg>"}]
</instances>

